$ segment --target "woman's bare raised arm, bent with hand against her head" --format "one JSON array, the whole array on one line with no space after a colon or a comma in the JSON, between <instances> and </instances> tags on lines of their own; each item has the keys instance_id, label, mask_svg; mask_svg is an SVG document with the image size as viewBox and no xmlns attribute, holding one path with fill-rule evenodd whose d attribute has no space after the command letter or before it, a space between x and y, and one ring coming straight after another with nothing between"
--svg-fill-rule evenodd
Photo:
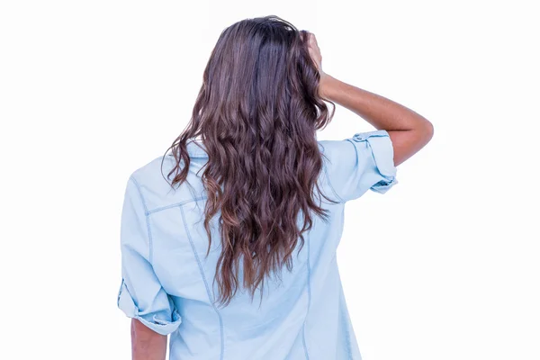
<instances>
[{"instance_id":1,"label":"woman's bare raised arm, bent with hand against her head","mask_svg":"<svg viewBox=\"0 0 540 360\"><path fill-rule=\"evenodd\" d=\"M392 139L394 165L412 157L433 137L433 125L417 112L381 95L349 85L322 71L320 49L312 33L310 53L320 70L320 96L346 107L371 123L377 130L386 130Z\"/></svg>"}]
</instances>

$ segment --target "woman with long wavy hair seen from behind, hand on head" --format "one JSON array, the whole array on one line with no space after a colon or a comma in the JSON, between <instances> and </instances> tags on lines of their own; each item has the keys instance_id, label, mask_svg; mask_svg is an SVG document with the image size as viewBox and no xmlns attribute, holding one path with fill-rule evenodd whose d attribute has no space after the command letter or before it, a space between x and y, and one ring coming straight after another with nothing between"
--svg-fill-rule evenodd
<instances>
[{"instance_id":1,"label":"woman with long wavy hair seen from behind, hand on head","mask_svg":"<svg viewBox=\"0 0 540 360\"><path fill-rule=\"evenodd\" d=\"M130 176L118 306L133 359L165 359L169 334L177 360L361 358L336 263L344 204L397 184L433 127L321 60L277 16L229 26L189 125ZM317 140L335 103L376 130Z\"/></svg>"}]
</instances>

